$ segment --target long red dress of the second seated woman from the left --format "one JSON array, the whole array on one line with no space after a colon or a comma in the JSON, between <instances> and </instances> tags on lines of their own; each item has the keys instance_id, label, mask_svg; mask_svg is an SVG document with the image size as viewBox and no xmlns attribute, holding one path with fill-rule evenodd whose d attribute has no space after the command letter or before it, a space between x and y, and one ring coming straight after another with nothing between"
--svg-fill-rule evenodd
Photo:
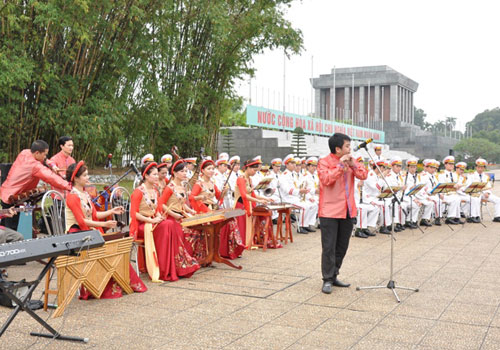
<instances>
[{"instance_id":1,"label":"long red dress of the second seated woman from the left","mask_svg":"<svg viewBox=\"0 0 500 350\"><path fill-rule=\"evenodd\" d=\"M144 184L132 192L130 203L130 234L136 239L144 238L144 222L137 220L136 214L153 217L162 206L158 201L158 193L150 196ZM178 225L178 224L177 224ZM179 277L191 277L200 265L189 253L185 244L182 229L171 220L161 221L153 230L160 280L177 281Z\"/></svg>"}]
</instances>

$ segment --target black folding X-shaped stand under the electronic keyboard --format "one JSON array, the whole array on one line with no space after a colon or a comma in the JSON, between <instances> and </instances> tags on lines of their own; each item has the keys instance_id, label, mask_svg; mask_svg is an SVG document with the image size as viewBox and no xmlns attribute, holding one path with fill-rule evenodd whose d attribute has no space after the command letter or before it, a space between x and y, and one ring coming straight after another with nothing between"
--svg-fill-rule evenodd
<instances>
[{"instance_id":1,"label":"black folding X-shaped stand under the electronic keyboard","mask_svg":"<svg viewBox=\"0 0 500 350\"><path fill-rule=\"evenodd\" d=\"M7 318L7 321L3 324L2 328L0 329L0 337L5 333L9 325L12 323L14 318L17 316L19 311L26 311L32 318L35 319L38 323L40 323L45 329L47 329L51 334L46 334L46 333L36 333L36 332L30 332L30 335L35 336L35 337L44 337L44 338L51 338L51 339L57 339L57 340L69 340L69 341L78 341L78 342L83 342L83 343L88 343L89 339L88 338L78 338L78 337L69 337L69 336L64 336L59 334L54 328L52 328L47 322L45 322L40 316L38 316L33 310L31 310L28 307L28 301L31 299L31 295L35 291L36 287L40 282L42 281L42 278L47 274L47 271L52 267L54 264L54 261L56 260L56 257L50 258L49 262L47 265L44 266L42 272L40 275L38 275L38 278L34 281L31 282L18 282L15 284L7 284L7 281L0 280L0 290L14 303L16 303L16 307L10 314L9 318ZM29 287L28 292L26 295L24 295L21 299L19 299L15 294L14 294L14 289L17 289L18 287Z\"/></svg>"}]
</instances>

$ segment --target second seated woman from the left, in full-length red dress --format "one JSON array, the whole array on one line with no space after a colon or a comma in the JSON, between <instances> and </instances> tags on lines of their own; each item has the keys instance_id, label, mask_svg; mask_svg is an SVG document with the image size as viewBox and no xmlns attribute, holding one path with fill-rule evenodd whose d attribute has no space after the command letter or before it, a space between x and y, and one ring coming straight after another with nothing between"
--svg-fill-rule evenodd
<instances>
[{"instance_id":1,"label":"second seated woman from the left, in full-length red dress","mask_svg":"<svg viewBox=\"0 0 500 350\"><path fill-rule=\"evenodd\" d=\"M177 281L179 277L191 277L200 265L186 249L182 229L160 215L162 206L155 188L158 185L156 163L144 164L141 173L141 184L131 197L130 234L136 239L143 239L146 223L154 225L153 237L160 269L159 279Z\"/></svg>"}]
</instances>

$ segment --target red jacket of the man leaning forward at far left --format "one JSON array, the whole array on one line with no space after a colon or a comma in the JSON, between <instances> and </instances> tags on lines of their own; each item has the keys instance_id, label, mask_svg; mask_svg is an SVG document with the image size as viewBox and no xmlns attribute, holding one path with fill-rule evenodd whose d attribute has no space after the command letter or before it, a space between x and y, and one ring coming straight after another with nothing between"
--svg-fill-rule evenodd
<instances>
[{"instance_id":1,"label":"red jacket of the man leaning forward at far left","mask_svg":"<svg viewBox=\"0 0 500 350\"><path fill-rule=\"evenodd\" d=\"M56 175L52 170L35 159L31 150L25 149L17 156L7 179L2 184L2 201L9 203L11 195L20 194L36 188L38 182L43 180L50 185L71 191L70 184Z\"/></svg>"}]
</instances>

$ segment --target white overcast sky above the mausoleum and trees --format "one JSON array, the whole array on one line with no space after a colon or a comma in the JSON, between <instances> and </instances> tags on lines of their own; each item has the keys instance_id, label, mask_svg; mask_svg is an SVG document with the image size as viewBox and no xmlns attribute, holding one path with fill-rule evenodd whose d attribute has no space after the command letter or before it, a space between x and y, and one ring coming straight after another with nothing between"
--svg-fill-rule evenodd
<instances>
[{"instance_id":1,"label":"white overcast sky above the mausoleum and trees","mask_svg":"<svg viewBox=\"0 0 500 350\"><path fill-rule=\"evenodd\" d=\"M303 0L287 18L302 30L304 51L286 63L287 110L311 110L314 76L337 68L388 65L419 83L415 106L458 129L500 106L500 1ZM312 60L311 57L314 57ZM252 102L281 108L283 51L255 57ZM249 96L248 81L238 91ZM299 102L300 101L300 102ZM295 106L295 107L293 107Z\"/></svg>"}]
</instances>

